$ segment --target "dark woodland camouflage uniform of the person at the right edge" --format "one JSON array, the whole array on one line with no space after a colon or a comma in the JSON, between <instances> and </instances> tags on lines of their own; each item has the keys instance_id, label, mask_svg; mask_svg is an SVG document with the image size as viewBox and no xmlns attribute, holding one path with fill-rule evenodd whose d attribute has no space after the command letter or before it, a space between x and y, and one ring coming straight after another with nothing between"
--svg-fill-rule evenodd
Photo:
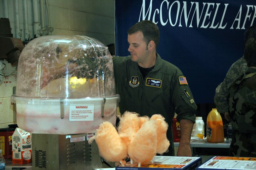
<instances>
[{"instance_id":1,"label":"dark woodland camouflage uniform of the person at the right edge","mask_svg":"<svg viewBox=\"0 0 256 170\"><path fill-rule=\"evenodd\" d=\"M256 157L256 68L230 86L227 101L233 128L229 156Z\"/></svg>"}]
</instances>

